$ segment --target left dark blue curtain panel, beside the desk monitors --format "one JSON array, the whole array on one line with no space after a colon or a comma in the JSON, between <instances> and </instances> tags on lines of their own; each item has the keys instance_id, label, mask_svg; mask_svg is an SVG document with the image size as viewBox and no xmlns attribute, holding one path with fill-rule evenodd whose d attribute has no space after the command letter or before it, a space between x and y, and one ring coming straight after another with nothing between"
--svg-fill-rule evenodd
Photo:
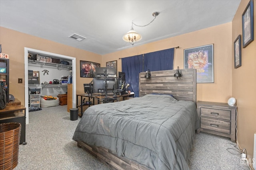
<instances>
[{"instance_id":1,"label":"left dark blue curtain panel, beside the desk monitors","mask_svg":"<svg viewBox=\"0 0 256 170\"><path fill-rule=\"evenodd\" d=\"M125 72L126 83L130 84L128 90L139 97L139 73L142 72L143 55L122 58L122 72Z\"/></svg>"}]
</instances>

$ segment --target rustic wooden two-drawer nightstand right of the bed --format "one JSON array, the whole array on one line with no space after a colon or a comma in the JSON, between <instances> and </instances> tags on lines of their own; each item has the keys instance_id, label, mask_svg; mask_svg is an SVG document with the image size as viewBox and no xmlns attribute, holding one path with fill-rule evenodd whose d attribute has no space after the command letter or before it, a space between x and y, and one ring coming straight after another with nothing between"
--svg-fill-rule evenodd
<instances>
[{"instance_id":1,"label":"rustic wooden two-drawer nightstand right of the bed","mask_svg":"<svg viewBox=\"0 0 256 170\"><path fill-rule=\"evenodd\" d=\"M236 106L226 103L197 102L200 131L230 137L236 141Z\"/></svg>"}]
</instances>

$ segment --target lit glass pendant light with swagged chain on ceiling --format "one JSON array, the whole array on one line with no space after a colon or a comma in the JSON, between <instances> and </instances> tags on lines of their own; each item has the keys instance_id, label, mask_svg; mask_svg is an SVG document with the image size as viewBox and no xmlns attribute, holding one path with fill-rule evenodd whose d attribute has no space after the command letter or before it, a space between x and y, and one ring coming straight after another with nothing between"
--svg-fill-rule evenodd
<instances>
[{"instance_id":1,"label":"lit glass pendant light with swagged chain on ceiling","mask_svg":"<svg viewBox=\"0 0 256 170\"><path fill-rule=\"evenodd\" d=\"M159 12L153 12L152 16L154 16L155 18L150 23L152 23L156 19L156 16L158 16L158 15L159 15ZM126 33L123 36L123 40L129 42L133 46L137 41L140 41L142 39L142 36L139 33L137 33L136 31L134 31L133 25L136 25L137 27L145 27L145 26L149 25L150 23L148 23L146 25L136 25L135 23L132 22L131 30L128 31L128 33Z\"/></svg>"}]
</instances>

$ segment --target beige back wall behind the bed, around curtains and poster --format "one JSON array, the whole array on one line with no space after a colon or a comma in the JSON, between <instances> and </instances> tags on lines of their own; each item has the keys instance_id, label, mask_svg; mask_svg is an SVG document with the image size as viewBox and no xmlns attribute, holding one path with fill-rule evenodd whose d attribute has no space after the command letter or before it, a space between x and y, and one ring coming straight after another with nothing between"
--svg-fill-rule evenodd
<instances>
[{"instance_id":1,"label":"beige back wall behind the bed, around curtains and poster","mask_svg":"<svg viewBox=\"0 0 256 170\"><path fill-rule=\"evenodd\" d=\"M179 46L174 50L174 69L184 67L184 49L214 44L214 83L197 84L197 100L227 102L232 96L232 23L202 29L180 36L156 41L146 45L110 53L102 56L102 63L117 60L118 71L122 70L119 58L160 51ZM224 73L224 74L223 74Z\"/></svg>"}]
</instances>

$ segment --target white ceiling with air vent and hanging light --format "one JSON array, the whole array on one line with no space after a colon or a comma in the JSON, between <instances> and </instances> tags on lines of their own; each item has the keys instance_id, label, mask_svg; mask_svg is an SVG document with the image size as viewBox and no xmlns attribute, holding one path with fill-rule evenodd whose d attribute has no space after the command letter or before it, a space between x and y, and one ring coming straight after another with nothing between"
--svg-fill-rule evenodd
<instances>
[{"instance_id":1,"label":"white ceiling with air vent and hanging light","mask_svg":"<svg viewBox=\"0 0 256 170\"><path fill-rule=\"evenodd\" d=\"M0 26L100 55L232 21L241 0L0 0ZM84 41L68 38L73 33ZM24 40L26 41L26 40ZM4 48L4 45L2 45ZM172 47L170 47L172 48Z\"/></svg>"}]
</instances>

